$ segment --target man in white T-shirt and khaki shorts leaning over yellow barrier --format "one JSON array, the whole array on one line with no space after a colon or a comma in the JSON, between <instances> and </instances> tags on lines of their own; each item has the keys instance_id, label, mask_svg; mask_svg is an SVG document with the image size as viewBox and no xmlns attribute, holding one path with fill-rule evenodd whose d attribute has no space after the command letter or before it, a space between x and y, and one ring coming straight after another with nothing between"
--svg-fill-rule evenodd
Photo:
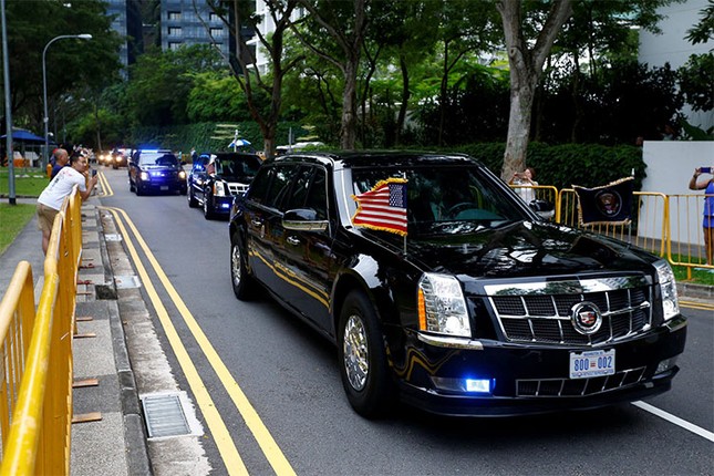
<instances>
[{"instance_id":1,"label":"man in white T-shirt and khaki shorts leaning over yellow barrier","mask_svg":"<svg viewBox=\"0 0 714 476\"><path fill-rule=\"evenodd\" d=\"M65 152L66 154L66 152ZM65 197L72 193L76 185L82 201L86 200L96 185L97 177L89 178L89 159L80 154L72 154L70 166L63 167L38 197L38 225L42 231L42 252L48 253L50 235L54 217L62 208Z\"/></svg>"}]
</instances>

